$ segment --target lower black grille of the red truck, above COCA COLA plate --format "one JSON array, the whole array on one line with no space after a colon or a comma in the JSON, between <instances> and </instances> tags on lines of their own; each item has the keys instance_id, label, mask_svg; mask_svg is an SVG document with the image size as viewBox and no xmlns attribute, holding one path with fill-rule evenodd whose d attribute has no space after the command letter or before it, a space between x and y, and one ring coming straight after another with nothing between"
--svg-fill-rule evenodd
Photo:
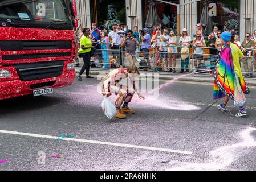
<instances>
[{"instance_id":1,"label":"lower black grille of the red truck, above COCA COLA plate","mask_svg":"<svg viewBox=\"0 0 256 182\"><path fill-rule=\"evenodd\" d=\"M64 61L17 64L15 69L22 81L40 80L62 74Z\"/></svg>"}]
</instances>

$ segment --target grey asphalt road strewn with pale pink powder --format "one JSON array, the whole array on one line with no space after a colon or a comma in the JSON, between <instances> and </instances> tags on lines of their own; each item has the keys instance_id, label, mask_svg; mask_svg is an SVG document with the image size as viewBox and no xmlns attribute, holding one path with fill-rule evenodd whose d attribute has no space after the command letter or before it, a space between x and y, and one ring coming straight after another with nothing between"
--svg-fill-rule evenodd
<instances>
[{"instance_id":1,"label":"grey asphalt road strewn with pale pink powder","mask_svg":"<svg viewBox=\"0 0 256 182\"><path fill-rule=\"evenodd\" d=\"M0 101L0 170L256 169L255 87L246 118L230 114L238 111L232 101L221 113L212 85L174 82L157 100L135 96L136 114L109 120L97 84L75 81L46 96ZM74 137L57 141L60 134ZM40 151L50 157L45 164Z\"/></svg>"}]
</instances>

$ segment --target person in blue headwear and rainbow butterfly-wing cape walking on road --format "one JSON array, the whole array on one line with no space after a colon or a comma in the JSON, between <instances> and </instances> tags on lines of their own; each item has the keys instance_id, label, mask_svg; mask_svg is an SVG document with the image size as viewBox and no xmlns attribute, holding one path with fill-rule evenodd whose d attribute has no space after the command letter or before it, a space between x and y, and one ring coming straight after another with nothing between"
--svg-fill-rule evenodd
<instances>
[{"instance_id":1,"label":"person in blue headwear and rainbow butterfly-wing cape walking on road","mask_svg":"<svg viewBox=\"0 0 256 182\"><path fill-rule=\"evenodd\" d=\"M218 105L218 109L226 112L226 105L229 99L234 100L234 106L239 106L240 110L235 117L247 115L245 104L245 94L250 90L242 76L239 61L243 59L243 53L236 44L230 42L231 32L223 32L221 40L224 43L214 70L214 99L224 98L223 104Z\"/></svg>"}]
</instances>

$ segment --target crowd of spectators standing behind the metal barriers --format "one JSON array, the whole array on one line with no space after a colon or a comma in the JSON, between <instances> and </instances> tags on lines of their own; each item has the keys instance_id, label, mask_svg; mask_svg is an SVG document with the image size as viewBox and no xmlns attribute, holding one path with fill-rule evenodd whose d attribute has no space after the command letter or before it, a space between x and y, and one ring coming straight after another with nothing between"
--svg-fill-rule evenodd
<instances>
[{"instance_id":1,"label":"crowd of spectators standing behind the metal barriers","mask_svg":"<svg viewBox=\"0 0 256 182\"><path fill-rule=\"evenodd\" d=\"M220 53L220 49L224 45L220 38L222 31L218 30L217 26L213 27L213 31L210 32L209 36L205 36L202 24L198 23L193 37L189 35L189 31L186 28L182 29L182 34L178 37L176 32L169 28L162 28L161 24L156 24L153 30L147 27L139 30L137 26L130 30L125 27L127 26L113 24L112 30L109 32L108 29L97 28L96 23L92 23L90 35L87 37L92 42L93 47L91 48L102 49L102 51L96 52L97 59L101 59L99 62L102 68L111 68L109 55L112 55L113 59L121 67L124 66L123 62L126 57L129 65L136 65L137 62L144 61L141 62L145 63L144 69L152 69L152 54L150 52L153 49L155 69L156 67L161 67L162 69L160 70L162 71L176 73L177 58L180 58L181 69L179 72L184 73L189 72L190 51L193 53L194 68L200 69L201 65L204 65L202 60L209 61L209 64L214 66L218 59L218 53ZM79 28L75 31L78 40L81 38L81 34L78 31ZM231 32L230 42L237 44L244 53L245 59L243 59L242 64L245 72L253 72L255 65L253 65L250 56L256 45L256 31L254 31L253 35L246 34L242 43L235 28L228 30L227 27L224 27L224 31ZM207 53L205 52L206 50L208 50ZM88 51L89 49L84 51L84 48L80 47L80 52ZM121 51L124 53L120 53ZM205 54L208 55L208 58L205 58L207 57L204 56ZM252 74L246 74L245 76L252 77Z\"/></svg>"}]
</instances>

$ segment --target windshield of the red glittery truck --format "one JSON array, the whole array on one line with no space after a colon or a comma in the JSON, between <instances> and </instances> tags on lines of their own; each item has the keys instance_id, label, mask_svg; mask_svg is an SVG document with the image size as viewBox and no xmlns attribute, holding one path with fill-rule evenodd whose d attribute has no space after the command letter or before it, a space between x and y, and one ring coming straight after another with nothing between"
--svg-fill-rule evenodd
<instances>
[{"instance_id":1,"label":"windshield of the red glittery truck","mask_svg":"<svg viewBox=\"0 0 256 182\"><path fill-rule=\"evenodd\" d=\"M0 26L72 30L66 0L2 0Z\"/></svg>"}]
</instances>

